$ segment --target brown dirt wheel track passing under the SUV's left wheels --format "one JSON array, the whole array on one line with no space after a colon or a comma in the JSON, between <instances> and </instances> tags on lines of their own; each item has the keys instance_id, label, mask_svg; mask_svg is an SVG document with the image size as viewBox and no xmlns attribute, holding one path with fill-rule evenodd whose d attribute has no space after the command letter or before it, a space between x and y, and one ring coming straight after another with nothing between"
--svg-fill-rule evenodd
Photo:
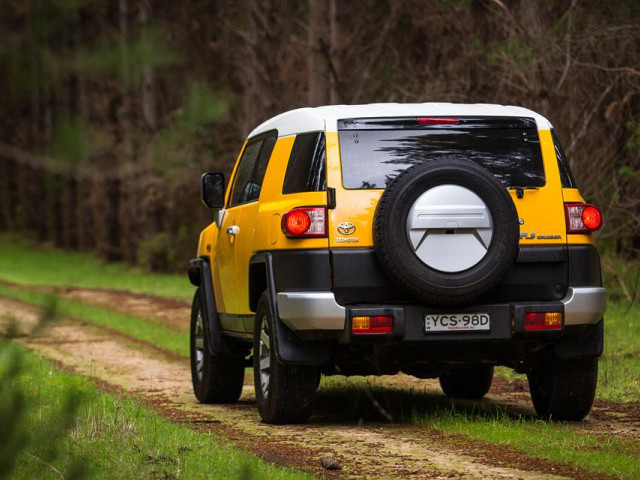
<instances>
[{"instance_id":1,"label":"brown dirt wheel track passing under the SUV's left wheels","mask_svg":"<svg viewBox=\"0 0 640 480\"><path fill-rule=\"evenodd\" d=\"M13 312L26 323L38 316L36 307L0 297L0 318L2 312ZM527 458L515 451L509 455L505 447L444 435L425 427L369 421L359 424L358 418L345 416L343 406L336 409L322 405L325 400L329 404L335 400L322 391L319 414L310 424L265 425L260 423L249 379L245 379L238 404L198 404L191 391L186 360L166 358L157 350L141 349L140 342L132 343L74 320L64 320L21 342L66 369L153 405L175 421L217 431L268 461L295 465L321 476L604 478L568 465ZM390 385L398 381L393 378ZM331 474L323 471L320 461L324 455L338 459L343 470Z\"/></svg>"}]
</instances>

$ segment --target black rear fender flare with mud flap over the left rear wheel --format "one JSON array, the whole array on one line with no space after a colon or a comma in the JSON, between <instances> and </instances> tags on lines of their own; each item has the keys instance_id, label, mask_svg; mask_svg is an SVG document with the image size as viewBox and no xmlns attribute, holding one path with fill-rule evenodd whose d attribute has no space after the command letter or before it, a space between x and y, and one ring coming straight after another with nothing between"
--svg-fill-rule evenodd
<instances>
[{"instance_id":1,"label":"black rear fender flare with mud flap over the left rear wheel","mask_svg":"<svg viewBox=\"0 0 640 480\"><path fill-rule=\"evenodd\" d=\"M269 252L253 255L249 261L249 266L251 267L251 265L255 264L264 264L267 277L267 292L271 311L275 318L273 340L278 359L284 364L324 365L329 363L334 350L334 345L331 342L303 341L280 320L272 255Z\"/></svg>"}]
</instances>

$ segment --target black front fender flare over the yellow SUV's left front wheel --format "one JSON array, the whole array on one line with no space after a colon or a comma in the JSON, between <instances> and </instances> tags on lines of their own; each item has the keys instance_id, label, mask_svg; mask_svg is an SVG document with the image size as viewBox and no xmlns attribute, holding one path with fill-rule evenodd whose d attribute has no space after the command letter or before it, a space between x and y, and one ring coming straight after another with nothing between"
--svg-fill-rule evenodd
<instances>
[{"instance_id":1,"label":"black front fender flare over the yellow SUV's left front wheel","mask_svg":"<svg viewBox=\"0 0 640 480\"><path fill-rule=\"evenodd\" d=\"M200 257L189 260L188 274L191 283L200 287L202 306L209 331L209 341L207 342L209 351L213 355L234 355L236 353L234 341L222 334L209 259Z\"/></svg>"}]
</instances>

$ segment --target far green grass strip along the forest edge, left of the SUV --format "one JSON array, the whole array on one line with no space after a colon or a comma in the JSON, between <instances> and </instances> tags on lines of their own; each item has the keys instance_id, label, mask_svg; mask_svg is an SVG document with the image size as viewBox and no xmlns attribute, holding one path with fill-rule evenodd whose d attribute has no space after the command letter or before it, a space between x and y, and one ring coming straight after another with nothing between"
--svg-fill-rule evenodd
<instances>
[{"instance_id":1,"label":"far green grass strip along the forest edge, left of the SUV","mask_svg":"<svg viewBox=\"0 0 640 480\"><path fill-rule=\"evenodd\" d=\"M88 253L32 245L22 237L0 234L0 280L28 285L111 288L191 300L186 274L157 274L122 263L104 263Z\"/></svg>"}]
</instances>

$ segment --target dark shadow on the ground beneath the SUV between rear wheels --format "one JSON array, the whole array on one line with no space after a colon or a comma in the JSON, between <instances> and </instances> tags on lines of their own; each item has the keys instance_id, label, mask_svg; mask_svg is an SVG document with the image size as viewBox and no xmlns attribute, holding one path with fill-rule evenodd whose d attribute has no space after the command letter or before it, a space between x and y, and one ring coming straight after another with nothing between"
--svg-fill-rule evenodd
<instances>
[{"instance_id":1,"label":"dark shadow on the ground beneath the SUV between rear wheels","mask_svg":"<svg viewBox=\"0 0 640 480\"><path fill-rule=\"evenodd\" d=\"M446 417L536 421L532 408L490 399L452 400L441 393L394 387L323 387L312 424L417 423Z\"/></svg>"}]
</instances>

